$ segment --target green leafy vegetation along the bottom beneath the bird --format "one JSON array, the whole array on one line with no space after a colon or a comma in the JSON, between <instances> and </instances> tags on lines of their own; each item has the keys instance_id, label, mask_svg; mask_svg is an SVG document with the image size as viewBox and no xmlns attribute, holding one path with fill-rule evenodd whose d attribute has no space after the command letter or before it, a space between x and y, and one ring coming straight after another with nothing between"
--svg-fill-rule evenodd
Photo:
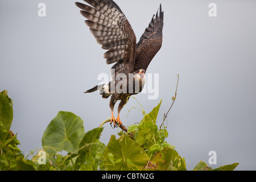
<instances>
[{"instance_id":1,"label":"green leafy vegetation along the bottom beneath the bird","mask_svg":"<svg viewBox=\"0 0 256 182\"><path fill-rule=\"evenodd\" d=\"M122 131L118 137L112 135L107 146L99 140L104 128L84 133L80 117L61 111L43 134L43 150L28 160L17 147L17 135L9 131L13 101L3 91L0 94L0 170L185 171L185 159L166 142L168 131L164 123L160 127L156 125L161 103L148 114L143 111L142 121L130 126L128 134ZM67 155L61 155L61 151L66 151ZM237 165L234 163L213 170L230 171ZM212 168L200 162L193 170L209 171Z\"/></svg>"}]
</instances>

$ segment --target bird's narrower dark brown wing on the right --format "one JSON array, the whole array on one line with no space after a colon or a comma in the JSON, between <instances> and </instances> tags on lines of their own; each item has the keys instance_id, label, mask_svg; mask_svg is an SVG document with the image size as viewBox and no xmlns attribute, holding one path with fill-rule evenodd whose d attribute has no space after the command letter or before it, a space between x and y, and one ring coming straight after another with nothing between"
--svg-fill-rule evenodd
<instances>
[{"instance_id":1,"label":"bird's narrower dark brown wing on the right","mask_svg":"<svg viewBox=\"0 0 256 182\"><path fill-rule=\"evenodd\" d=\"M160 5L160 12L154 15L149 26L144 31L141 39L137 43L137 57L135 59L134 71L147 67L156 53L162 47L163 40L163 18L164 13Z\"/></svg>"}]
</instances>

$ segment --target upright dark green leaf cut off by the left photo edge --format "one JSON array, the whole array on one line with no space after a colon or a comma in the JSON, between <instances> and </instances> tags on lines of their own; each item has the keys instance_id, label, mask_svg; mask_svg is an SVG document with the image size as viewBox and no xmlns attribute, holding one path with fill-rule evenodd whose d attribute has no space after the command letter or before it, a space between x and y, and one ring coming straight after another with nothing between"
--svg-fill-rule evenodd
<instances>
[{"instance_id":1,"label":"upright dark green leaf cut off by the left photo edge","mask_svg":"<svg viewBox=\"0 0 256 182\"><path fill-rule=\"evenodd\" d=\"M0 122L3 123L0 129L1 141L6 139L8 133L5 131L10 130L11 122L13 121L13 107L9 104L8 98L0 93Z\"/></svg>"}]
</instances>

